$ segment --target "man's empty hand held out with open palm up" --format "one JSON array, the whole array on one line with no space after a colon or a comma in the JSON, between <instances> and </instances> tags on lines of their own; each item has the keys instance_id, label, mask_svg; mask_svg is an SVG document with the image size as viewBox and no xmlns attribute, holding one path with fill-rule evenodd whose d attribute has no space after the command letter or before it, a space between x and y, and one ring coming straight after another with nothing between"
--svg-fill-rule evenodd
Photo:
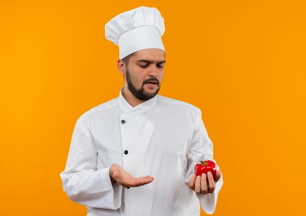
<instances>
[{"instance_id":1,"label":"man's empty hand held out with open palm up","mask_svg":"<svg viewBox=\"0 0 306 216\"><path fill-rule=\"evenodd\" d=\"M111 184L118 182L124 188L139 187L153 182L153 177L146 175L143 177L133 177L129 172L125 171L120 165L113 164L109 168L109 177Z\"/></svg>"}]
</instances>

